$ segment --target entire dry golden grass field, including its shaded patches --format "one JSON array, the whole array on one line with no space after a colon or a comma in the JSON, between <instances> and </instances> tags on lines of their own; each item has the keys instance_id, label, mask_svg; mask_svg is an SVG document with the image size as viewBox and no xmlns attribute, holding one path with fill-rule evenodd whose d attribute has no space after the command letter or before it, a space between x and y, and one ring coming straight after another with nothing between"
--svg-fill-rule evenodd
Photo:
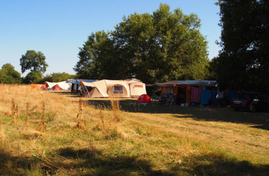
<instances>
[{"instance_id":1,"label":"entire dry golden grass field, including its shaded patches","mask_svg":"<svg viewBox=\"0 0 269 176\"><path fill-rule=\"evenodd\" d=\"M0 175L269 175L269 112L134 101L0 85Z\"/></svg>"}]
</instances>

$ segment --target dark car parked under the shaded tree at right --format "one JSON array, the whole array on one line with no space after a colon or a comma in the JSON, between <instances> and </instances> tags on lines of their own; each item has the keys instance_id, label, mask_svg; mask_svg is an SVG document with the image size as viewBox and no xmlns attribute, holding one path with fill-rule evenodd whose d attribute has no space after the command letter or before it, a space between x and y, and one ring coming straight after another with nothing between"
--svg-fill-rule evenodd
<instances>
[{"instance_id":1,"label":"dark car parked under the shaded tree at right","mask_svg":"<svg viewBox=\"0 0 269 176\"><path fill-rule=\"evenodd\" d=\"M239 92L232 99L231 107L234 110L248 110L250 112L269 110L269 97L258 92Z\"/></svg>"}]
</instances>

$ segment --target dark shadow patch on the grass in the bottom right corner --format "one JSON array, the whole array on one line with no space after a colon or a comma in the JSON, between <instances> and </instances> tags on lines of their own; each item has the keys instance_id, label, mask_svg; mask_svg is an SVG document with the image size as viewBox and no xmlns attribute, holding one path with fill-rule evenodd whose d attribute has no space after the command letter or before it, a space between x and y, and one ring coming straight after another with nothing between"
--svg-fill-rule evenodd
<instances>
[{"instance_id":1,"label":"dark shadow patch on the grass in the bottom right corner","mask_svg":"<svg viewBox=\"0 0 269 176\"><path fill-rule=\"evenodd\" d=\"M214 153L190 156L181 166L173 168L178 169L197 176L268 176L269 174L269 165L253 165L246 160L238 161Z\"/></svg>"}]
</instances>

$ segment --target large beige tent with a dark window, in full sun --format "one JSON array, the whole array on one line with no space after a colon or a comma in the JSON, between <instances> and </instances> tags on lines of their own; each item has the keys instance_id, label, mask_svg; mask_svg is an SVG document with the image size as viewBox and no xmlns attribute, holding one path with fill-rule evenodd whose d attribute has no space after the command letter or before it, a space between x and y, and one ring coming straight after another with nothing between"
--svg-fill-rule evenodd
<instances>
[{"instance_id":1,"label":"large beige tent with a dark window, in full sun","mask_svg":"<svg viewBox=\"0 0 269 176\"><path fill-rule=\"evenodd\" d=\"M81 81L86 97L132 97L137 98L146 93L145 84L137 79L100 80L91 83Z\"/></svg>"}]
</instances>

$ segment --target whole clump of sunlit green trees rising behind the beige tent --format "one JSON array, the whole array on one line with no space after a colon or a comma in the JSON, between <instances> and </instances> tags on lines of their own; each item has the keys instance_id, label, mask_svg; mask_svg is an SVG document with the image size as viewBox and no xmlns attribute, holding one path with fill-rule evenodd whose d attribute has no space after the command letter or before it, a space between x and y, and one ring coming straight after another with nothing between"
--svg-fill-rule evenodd
<instances>
[{"instance_id":1,"label":"whole clump of sunlit green trees rising behind the beige tent","mask_svg":"<svg viewBox=\"0 0 269 176\"><path fill-rule=\"evenodd\" d=\"M171 12L167 4L160 4L153 15L134 13L112 32L92 33L74 70L87 79L202 79L208 59L200 25L197 15Z\"/></svg>"}]
</instances>

